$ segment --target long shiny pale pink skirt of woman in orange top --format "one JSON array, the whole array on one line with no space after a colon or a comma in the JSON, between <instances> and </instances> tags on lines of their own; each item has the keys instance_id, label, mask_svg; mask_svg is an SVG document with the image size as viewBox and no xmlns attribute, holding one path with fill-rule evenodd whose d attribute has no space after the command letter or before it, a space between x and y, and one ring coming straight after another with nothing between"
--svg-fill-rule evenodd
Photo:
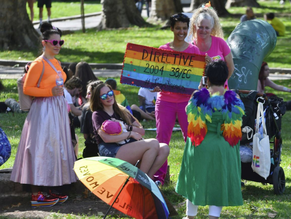
<instances>
[{"instance_id":1,"label":"long shiny pale pink skirt of woman in orange top","mask_svg":"<svg viewBox=\"0 0 291 219\"><path fill-rule=\"evenodd\" d=\"M10 180L37 186L77 181L66 100L37 97L23 125Z\"/></svg>"}]
</instances>

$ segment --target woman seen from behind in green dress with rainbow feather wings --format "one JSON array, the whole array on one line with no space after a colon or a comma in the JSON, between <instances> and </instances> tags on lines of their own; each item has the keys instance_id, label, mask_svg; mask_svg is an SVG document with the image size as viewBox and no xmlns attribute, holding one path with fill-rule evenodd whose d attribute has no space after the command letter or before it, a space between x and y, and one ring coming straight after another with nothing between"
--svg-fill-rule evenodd
<instances>
[{"instance_id":1,"label":"woman seen from behind in green dress with rainbow feather wings","mask_svg":"<svg viewBox=\"0 0 291 219\"><path fill-rule=\"evenodd\" d=\"M176 186L187 198L186 219L196 216L199 205L209 205L209 218L219 218L222 206L243 204L239 140L244 105L224 89L224 61L208 64L205 73L208 89L196 90L186 107L188 138Z\"/></svg>"}]
</instances>

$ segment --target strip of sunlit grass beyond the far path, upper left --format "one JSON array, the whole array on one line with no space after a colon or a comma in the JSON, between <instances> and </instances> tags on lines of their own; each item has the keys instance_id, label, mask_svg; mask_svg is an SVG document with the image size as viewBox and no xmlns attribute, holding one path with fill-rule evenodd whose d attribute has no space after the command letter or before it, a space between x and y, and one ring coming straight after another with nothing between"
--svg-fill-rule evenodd
<instances>
[{"instance_id":1,"label":"strip of sunlit grass beyond the far path, upper left","mask_svg":"<svg viewBox=\"0 0 291 219\"><path fill-rule=\"evenodd\" d=\"M68 17L73 15L81 14L81 1L80 0L54 0L52 1L52 15L51 18L58 17ZM37 1L33 4L34 18L33 21L39 20L39 9L37 7ZM84 1L84 13L94 13L102 10L102 5L100 4L100 0L85 0ZM26 4L26 11L28 13L30 19L30 9L28 7L28 3ZM44 6L42 18L44 20L47 19L47 10Z\"/></svg>"}]
</instances>

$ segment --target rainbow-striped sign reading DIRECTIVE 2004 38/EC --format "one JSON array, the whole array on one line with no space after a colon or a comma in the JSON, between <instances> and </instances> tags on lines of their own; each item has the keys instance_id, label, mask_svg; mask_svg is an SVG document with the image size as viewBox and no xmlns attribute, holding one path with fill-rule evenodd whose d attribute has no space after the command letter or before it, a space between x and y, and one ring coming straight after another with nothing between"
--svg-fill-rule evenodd
<instances>
[{"instance_id":1,"label":"rainbow-striped sign reading DIRECTIVE 2004 38/EC","mask_svg":"<svg viewBox=\"0 0 291 219\"><path fill-rule=\"evenodd\" d=\"M205 56L127 43L120 83L192 94L205 70Z\"/></svg>"}]
</instances>

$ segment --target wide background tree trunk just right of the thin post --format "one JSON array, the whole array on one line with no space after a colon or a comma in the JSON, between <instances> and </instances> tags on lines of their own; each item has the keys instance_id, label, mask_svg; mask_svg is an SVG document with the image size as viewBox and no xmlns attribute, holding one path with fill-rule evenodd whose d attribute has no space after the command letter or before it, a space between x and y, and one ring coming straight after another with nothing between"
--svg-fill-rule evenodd
<instances>
[{"instance_id":1,"label":"wide background tree trunk just right of the thin post","mask_svg":"<svg viewBox=\"0 0 291 219\"><path fill-rule=\"evenodd\" d=\"M98 29L145 26L146 22L137 10L134 0L101 0L102 19Z\"/></svg>"}]
</instances>

